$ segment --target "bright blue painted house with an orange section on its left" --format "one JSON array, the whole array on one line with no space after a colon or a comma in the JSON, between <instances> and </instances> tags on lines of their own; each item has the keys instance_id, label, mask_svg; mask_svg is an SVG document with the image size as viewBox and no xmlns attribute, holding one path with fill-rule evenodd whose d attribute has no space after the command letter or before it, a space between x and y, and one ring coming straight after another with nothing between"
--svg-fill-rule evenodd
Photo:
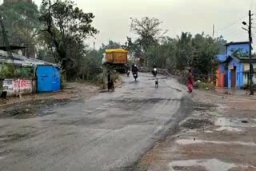
<instances>
[{"instance_id":1,"label":"bright blue painted house with an orange section on its left","mask_svg":"<svg viewBox=\"0 0 256 171\"><path fill-rule=\"evenodd\" d=\"M226 44L226 54L218 54L218 87L243 88L249 85L250 69L249 42L230 42ZM256 58L253 57L256 67Z\"/></svg>"}]
</instances>

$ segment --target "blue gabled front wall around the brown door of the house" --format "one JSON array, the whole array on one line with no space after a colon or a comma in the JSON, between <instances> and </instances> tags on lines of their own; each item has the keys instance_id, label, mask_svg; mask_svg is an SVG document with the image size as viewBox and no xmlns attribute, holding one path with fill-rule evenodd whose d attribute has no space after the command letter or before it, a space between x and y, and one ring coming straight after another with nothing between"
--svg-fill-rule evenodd
<instances>
[{"instance_id":1,"label":"blue gabled front wall around the brown door of the house","mask_svg":"<svg viewBox=\"0 0 256 171\"><path fill-rule=\"evenodd\" d=\"M235 61L234 59L229 63L228 69L228 87L231 88L231 66L236 66L236 87L240 88L243 86L243 66L240 62Z\"/></svg>"}]
</instances>

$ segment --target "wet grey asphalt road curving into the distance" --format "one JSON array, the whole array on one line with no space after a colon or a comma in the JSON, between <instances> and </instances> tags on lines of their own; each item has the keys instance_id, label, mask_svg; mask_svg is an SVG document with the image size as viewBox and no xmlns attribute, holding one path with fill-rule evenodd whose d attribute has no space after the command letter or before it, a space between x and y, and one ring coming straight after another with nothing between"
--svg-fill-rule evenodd
<instances>
[{"instance_id":1,"label":"wet grey asphalt road curving into the distance","mask_svg":"<svg viewBox=\"0 0 256 171\"><path fill-rule=\"evenodd\" d=\"M159 76L160 77L160 76ZM161 77L160 77L161 78ZM182 119L186 89L150 74L44 117L0 119L0 170L120 170ZM182 112L181 112L182 111Z\"/></svg>"}]
</instances>

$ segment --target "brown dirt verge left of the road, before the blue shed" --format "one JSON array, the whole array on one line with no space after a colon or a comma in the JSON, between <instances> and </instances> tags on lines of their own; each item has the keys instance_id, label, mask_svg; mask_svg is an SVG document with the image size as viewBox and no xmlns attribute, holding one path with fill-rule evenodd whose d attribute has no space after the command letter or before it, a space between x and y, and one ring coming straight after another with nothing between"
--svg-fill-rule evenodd
<instances>
[{"instance_id":1,"label":"brown dirt verge left of the road, before the blue shed","mask_svg":"<svg viewBox=\"0 0 256 171\"><path fill-rule=\"evenodd\" d=\"M40 117L50 114L48 109L83 101L96 95L99 87L89 83L69 82L66 88L56 93L35 93L22 97L7 97L0 101L0 118Z\"/></svg>"}]
</instances>

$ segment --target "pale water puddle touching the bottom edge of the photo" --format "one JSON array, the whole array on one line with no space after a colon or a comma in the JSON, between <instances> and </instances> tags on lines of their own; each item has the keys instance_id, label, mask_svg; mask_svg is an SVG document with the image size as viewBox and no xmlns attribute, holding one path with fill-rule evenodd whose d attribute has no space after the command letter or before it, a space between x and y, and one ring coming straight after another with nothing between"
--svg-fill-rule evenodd
<instances>
[{"instance_id":1,"label":"pale water puddle touching the bottom edge of the photo","mask_svg":"<svg viewBox=\"0 0 256 171\"><path fill-rule=\"evenodd\" d=\"M186 168L192 166L202 166L209 171L228 171L232 168L238 167L233 163L226 163L218 161L217 159L208 159L208 160L186 160L186 161L173 161L169 163L170 171L176 171L175 167Z\"/></svg>"}]
</instances>

